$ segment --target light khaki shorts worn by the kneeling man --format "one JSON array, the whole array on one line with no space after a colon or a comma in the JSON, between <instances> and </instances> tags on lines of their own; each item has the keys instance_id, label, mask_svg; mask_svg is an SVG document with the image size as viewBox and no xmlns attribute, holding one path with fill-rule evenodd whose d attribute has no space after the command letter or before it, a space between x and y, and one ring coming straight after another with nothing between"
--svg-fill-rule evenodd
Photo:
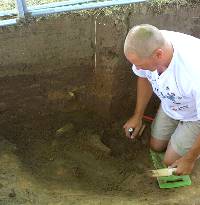
<instances>
[{"instance_id":1,"label":"light khaki shorts worn by the kneeling man","mask_svg":"<svg viewBox=\"0 0 200 205\"><path fill-rule=\"evenodd\" d=\"M159 140L169 140L174 151L185 155L200 135L200 121L179 121L166 115L159 108L151 126L151 136Z\"/></svg>"}]
</instances>

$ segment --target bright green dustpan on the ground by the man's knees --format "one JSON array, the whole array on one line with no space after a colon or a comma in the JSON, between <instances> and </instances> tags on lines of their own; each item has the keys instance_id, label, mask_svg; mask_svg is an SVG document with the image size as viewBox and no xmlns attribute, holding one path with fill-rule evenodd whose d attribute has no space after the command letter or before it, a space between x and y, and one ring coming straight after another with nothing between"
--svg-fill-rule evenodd
<instances>
[{"instance_id":1,"label":"bright green dustpan on the ground by the man's knees","mask_svg":"<svg viewBox=\"0 0 200 205\"><path fill-rule=\"evenodd\" d=\"M155 169L166 168L166 165L162 163L164 158L164 153L158 153L150 150L150 156L153 161L153 165ZM167 177L157 177L157 180L158 180L159 187L164 189L189 186L192 183L189 175L182 175L182 176L172 175Z\"/></svg>"}]
</instances>

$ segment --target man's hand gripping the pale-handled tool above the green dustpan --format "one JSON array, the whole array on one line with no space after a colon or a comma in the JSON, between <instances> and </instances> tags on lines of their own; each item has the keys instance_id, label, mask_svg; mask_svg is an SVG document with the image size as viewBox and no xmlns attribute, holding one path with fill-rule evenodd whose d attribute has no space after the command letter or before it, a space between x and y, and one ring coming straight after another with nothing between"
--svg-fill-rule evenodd
<instances>
[{"instance_id":1,"label":"man's hand gripping the pale-handled tool above the green dustpan","mask_svg":"<svg viewBox=\"0 0 200 205\"><path fill-rule=\"evenodd\" d=\"M186 156L176 160L170 167L176 167L176 175L187 175L191 174L195 162L188 159Z\"/></svg>"}]
</instances>

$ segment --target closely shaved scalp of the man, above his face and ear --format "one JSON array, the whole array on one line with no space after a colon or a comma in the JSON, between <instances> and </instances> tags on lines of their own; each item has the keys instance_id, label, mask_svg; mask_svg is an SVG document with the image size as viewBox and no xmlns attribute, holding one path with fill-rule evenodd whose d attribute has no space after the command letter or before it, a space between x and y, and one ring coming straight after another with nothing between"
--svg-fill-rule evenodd
<instances>
[{"instance_id":1,"label":"closely shaved scalp of the man, above his face and ear","mask_svg":"<svg viewBox=\"0 0 200 205\"><path fill-rule=\"evenodd\" d=\"M165 39L159 29L149 24L133 27L126 37L124 53L134 53L140 58L147 58L158 48L165 45Z\"/></svg>"}]
</instances>

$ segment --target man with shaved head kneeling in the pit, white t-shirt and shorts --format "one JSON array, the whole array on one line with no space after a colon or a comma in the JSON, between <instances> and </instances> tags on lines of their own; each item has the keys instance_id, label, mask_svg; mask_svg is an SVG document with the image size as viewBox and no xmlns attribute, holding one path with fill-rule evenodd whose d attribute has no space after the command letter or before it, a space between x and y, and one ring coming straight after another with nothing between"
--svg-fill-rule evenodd
<instances>
[{"instance_id":1,"label":"man with shaved head kneeling in the pit, white t-shirt and shorts","mask_svg":"<svg viewBox=\"0 0 200 205\"><path fill-rule=\"evenodd\" d=\"M190 174L200 155L200 39L142 24L129 31L124 53L138 76L135 112L124 125L127 137L137 136L154 92L161 105L150 147L166 150L164 163L177 167L176 174Z\"/></svg>"}]
</instances>

